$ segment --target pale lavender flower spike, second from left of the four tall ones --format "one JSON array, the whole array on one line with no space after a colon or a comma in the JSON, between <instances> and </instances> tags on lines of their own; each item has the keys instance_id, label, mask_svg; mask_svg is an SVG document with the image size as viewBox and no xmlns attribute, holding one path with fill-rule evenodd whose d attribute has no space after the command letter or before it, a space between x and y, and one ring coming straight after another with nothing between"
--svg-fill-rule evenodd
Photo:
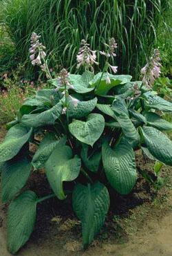
<instances>
[{"instance_id":1,"label":"pale lavender flower spike, second from left of the four tall ones","mask_svg":"<svg viewBox=\"0 0 172 256\"><path fill-rule=\"evenodd\" d=\"M87 44L85 39L81 40L80 45L81 47L78 51L78 55L76 56L76 60L78 62L77 68L84 66L86 70L91 68L92 71L94 71L93 65L98 65L98 62L96 62L96 51L92 51L89 48L89 44Z\"/></svg>"}]
</instances>

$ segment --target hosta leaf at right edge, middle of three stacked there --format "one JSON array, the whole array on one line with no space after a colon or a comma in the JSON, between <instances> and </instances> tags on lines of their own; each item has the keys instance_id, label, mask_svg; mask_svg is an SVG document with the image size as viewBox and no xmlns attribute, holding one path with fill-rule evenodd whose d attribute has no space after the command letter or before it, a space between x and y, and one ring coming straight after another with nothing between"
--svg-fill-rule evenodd
<instances>
[{"instance_id":1,"label":"hosta leaf at right edge, middle of three stacked there","mask_svg":"<svg viewBox=\"0 0 172 256\"><path fill-rule=\"evenodd\" d=\"M145 117L147 118L147 125L149 126L153 126L162 131L168 131L172 129L172 123L164 120L157 113L147 112L145 113Z\"/></svg>"}]
</instances>

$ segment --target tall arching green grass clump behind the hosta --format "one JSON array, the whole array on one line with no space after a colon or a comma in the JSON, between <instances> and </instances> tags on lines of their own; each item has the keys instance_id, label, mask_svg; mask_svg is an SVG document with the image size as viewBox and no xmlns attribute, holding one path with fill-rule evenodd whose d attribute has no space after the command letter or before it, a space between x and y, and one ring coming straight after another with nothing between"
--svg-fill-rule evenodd
<instances>
[{"instance_id":1,"label":"tall arching green grass clump behind the hosta","mask_svg":"<svg viewBox=\"0 0 172 256\"><path fill-rule=\"evenodd\" d=\"M28 60L29 37L41 33L50 66L76 72L74 56L80 40L89 38L100 50L107 38L118 43L120 73L138 77L140 66L157 43L157 28L170 0L3 0L3 22L16 46L17 57ZM146 36L145 36L146 35ZM103 70L105 60L98 54ZM30 64L27 63L27 68Z\"/></svg>"}]
</instances>

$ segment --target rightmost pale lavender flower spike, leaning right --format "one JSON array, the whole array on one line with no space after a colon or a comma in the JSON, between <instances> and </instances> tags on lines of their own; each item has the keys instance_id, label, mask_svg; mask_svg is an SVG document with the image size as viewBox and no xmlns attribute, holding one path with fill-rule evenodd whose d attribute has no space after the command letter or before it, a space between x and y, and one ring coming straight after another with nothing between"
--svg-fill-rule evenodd
<instances>
[{"instance_id":1,"label":"rightmost pale lavender flower spike, leaning right","mask_svg":"<svg viewBox=\"0 0 172 256\"><path fill-rule=\"evenodd\" d=\"M155 79L160 76L160 51L155 49L153 55L149 58L149 62L141 69L142 82L150 89Z\"/></svg>"}]
</instances>

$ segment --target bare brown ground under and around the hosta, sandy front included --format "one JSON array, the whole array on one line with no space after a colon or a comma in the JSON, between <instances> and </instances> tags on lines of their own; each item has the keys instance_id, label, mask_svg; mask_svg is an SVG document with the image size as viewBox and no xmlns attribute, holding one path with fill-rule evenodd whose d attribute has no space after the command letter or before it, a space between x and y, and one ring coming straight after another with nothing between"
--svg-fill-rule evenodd
<instances>
[{"instance_id":1,"label":"bare brown ground under and around the hosta, sandy front included","mask_svg":"<svg viewBox=\"0 0 172 256\"><path fill-rule=\"evenodd\" d=\"M0 127L0 141L6 134ZM153 163L137 152L137 165L151 170ZM169 176L166 187L158 195L141 177L132 194L112 194L113 207L100 235L87 249L82 249L80 222L72 212L70 199L50 199L37 209L36 227L19 256L172 256L172 169L164 167ZM26 188L42 196L50 192L43 170L32 174ZM0 206L0 256L6 250L6 205Z\"/></svg>"}]
</instances>

